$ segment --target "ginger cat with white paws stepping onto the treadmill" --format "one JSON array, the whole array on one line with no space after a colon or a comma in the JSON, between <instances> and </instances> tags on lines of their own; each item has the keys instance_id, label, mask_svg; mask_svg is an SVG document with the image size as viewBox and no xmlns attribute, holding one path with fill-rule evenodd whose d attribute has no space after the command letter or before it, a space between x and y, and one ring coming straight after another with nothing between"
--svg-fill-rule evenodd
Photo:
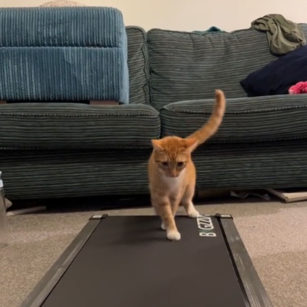
<instances>
[{"instance_id":1,"label":"ginger cat with white paws stepping onto the treadmill","mask_svg":"<svg viewBox=\"0 0 307 307\"><path fill-rule=\"evenodd\" d=\"M224 93L216 90L215 99L208 122L187 138L167 136L152 140L153 152L148 163L151 202L161 217L161 228L172 241L181 238L174 218L179 204L183 205L189 217L200 216L192 202L196 170L191 153L215 134L222 123L226 108Z\"/></svg>"}]
</instances>

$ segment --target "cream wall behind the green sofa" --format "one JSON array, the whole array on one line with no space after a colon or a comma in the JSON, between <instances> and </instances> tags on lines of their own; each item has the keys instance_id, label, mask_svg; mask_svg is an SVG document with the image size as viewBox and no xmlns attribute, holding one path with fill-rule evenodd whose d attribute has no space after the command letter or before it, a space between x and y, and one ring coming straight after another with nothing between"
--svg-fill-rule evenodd
<instances>
[{"instance_id":1,"label":"cream wall behind the green sofa","mask_svg":"<svg viewBox=\"0 0 307 307\"><path fill-rule=\"evenodd\" d=\"M0 6L39 6L48 0L0 0ZM77 0L87 5L120 9L126 25L148 30L205 30L215 25L226 31L247 28L265 14L279 13L307 22L307 0Z\"/></svg>"}]
</instances>

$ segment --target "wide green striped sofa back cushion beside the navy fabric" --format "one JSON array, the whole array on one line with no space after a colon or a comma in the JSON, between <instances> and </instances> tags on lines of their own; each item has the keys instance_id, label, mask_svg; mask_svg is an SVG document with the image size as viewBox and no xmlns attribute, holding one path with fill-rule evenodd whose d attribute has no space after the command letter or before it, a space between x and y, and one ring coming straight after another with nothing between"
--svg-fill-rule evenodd
<instances>
[{"instance_id":1,"label":"wide green striped sofa back cushion beside the navy fabric","mask_svg":"<svg viewBox=\"0 0 307 307\"><path fill-rule=\"evenodd\" d=\"M305 34L307 25L301 25ZM245 97L240 85L251 72L276 59L266 33L243 29L203 34L152 29L148 33L151 97L156 108L181 100Z\"/></svg>"}]
</instances>

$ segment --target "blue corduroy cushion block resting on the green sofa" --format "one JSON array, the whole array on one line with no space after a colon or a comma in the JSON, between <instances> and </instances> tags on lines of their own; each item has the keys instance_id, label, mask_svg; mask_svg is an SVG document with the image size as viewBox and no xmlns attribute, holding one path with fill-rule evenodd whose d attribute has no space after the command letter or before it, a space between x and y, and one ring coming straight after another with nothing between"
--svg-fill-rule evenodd
<instances>
[{"instance_id":1,"label":"blue corduroy cushion block resting on the green sofa","mask_svg":"<svg viewBox=\"0 0 307 307\"><path fill-rule=\"evenodd\" d=\"M0 99L128 103L122 13L108 7L0 9Z\"/></svg>"}]
</instances>

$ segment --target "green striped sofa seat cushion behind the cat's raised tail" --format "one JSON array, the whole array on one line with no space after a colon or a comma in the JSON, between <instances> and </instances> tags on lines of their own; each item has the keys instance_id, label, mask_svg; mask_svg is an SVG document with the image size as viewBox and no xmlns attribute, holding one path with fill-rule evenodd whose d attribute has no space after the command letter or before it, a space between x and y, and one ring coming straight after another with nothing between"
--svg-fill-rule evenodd
<instances>
[{"instance_id":1,"label":"green striped sofa seat cushion behind the cat's raised tail","mask_svg":"<svg viewBox=\"0 0 307 307\"><path fill-rule=\"evenodd\" d=\"M161 109L162 136L186 137L211 115L214 99L170 103ZM307 95L227 99L223 123L208 142L263 142L307 137Z\"/></svg>"}]
</instances>

